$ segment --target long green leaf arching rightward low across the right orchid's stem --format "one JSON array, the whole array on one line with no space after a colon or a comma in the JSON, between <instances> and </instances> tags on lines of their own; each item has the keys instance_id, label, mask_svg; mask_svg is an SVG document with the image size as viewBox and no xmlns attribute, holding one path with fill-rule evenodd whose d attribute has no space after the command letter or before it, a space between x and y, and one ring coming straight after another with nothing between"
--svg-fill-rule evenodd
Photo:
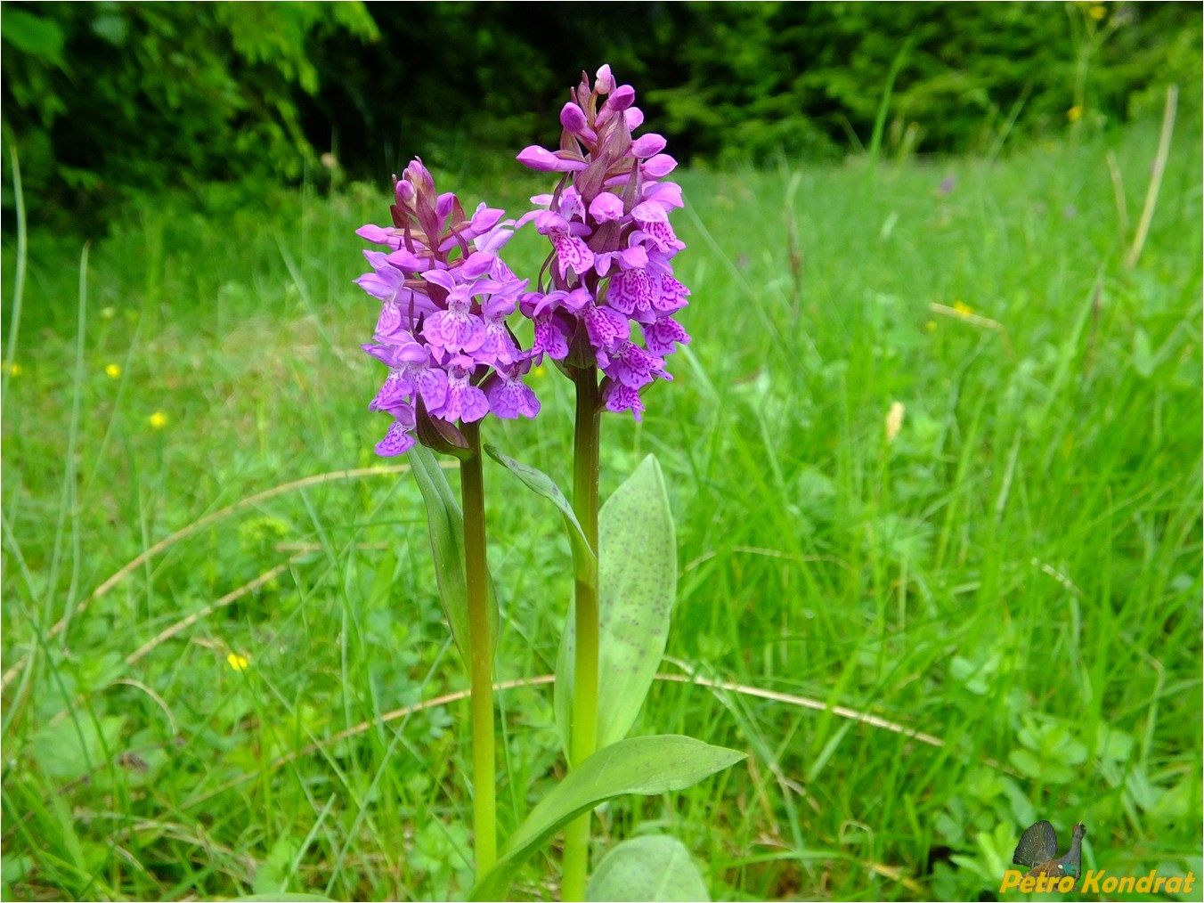
<instances>
[{"instance_id":1,"label":"long green leaf arching rightward low across the right orchid's stem","mask_svg":"<svg viewBox=\"0 0 1204 903\"><path fill-rule=\"evenodd\" d=\"M598 803L624 793L684 790L742 759L743 752L675 734L632 737L598 750L531 810L468 899L503 899L515 869L556 831Z\"/></svg>"}]
</instances>

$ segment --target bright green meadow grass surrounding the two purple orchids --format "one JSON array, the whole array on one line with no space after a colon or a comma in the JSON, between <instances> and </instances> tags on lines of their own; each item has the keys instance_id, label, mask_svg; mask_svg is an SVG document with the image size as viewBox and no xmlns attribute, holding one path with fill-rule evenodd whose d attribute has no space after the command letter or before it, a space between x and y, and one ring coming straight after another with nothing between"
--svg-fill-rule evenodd
<instances>
[{"instance_id":1,"label":"bright green meadow grass surrounding the two purple orchids","mask_svg":"<svg viewBox=\"0 0 1204 903\"><path fill-rule=\"evenodd\" d=\"M681 576L662 671L942 745L660 683L638 732L748 763L604 807L600 850L677 834L716 898L978 898L1044 818L1063 843L1087 824L1088 866L1200 874L1199 125L1180 123L1132 270L1105 158L1132 236L1156 138L683 176L695 341L643 425L606 419L602 458L603 495L649 452L669 483ZM537 187L489 191L515 209ZM47 636L202 515L374 464L382 373L356 348L374 314L350 279L353 229L385 203L362 187L165 201L92 247L85 296L78 242L31 236L4 399L6 668L34 653L5 691L6 897L466 889L466 704L376 721L465 686L408 476L244 507ZM515 268L541 255L535 236L513 247ZM973 315L932 307L958 302ZM485 438L567 485L569 385L536 385L544 413ZM491 461L485 477L498 677L545 674L567 543L542 500ZM504 832L561 766L550 689L501 706ZM514 893L551 898L554 873L533 863Z\"/></svg>"}]
</instances>

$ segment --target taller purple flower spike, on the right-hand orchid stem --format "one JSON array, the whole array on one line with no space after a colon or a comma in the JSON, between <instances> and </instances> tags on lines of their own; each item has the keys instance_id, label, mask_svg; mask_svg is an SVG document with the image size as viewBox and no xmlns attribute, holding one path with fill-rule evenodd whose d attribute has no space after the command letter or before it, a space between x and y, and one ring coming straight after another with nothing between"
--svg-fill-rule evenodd
<instances>
[{"instance_id":1,"label":"taller purple flower spike, on the right-hand orchid stem","mask_svg":"<svg viewBox=\"0 0 1204 903\"><path fill-rule=\"evenodd\" d=\"M539 172L561 172L550 195L532 197L535 220L551 242L550 290L527 294L521 311L535 321L532 355L567 366L597 366L610 411L644 411L641 391L672 379L665 359L690 341L674 314L690 291L673 275L685 244L669 225L681 189L663 181L677 161L656 134L633 137L643 113L636 92L615 84L609 66L571 92L560 111L560 147L532 146L518 155ZM544 289L545 287L541 287ZM633 341L638 325L643 343Z\"/></svg>"}]
</instances>

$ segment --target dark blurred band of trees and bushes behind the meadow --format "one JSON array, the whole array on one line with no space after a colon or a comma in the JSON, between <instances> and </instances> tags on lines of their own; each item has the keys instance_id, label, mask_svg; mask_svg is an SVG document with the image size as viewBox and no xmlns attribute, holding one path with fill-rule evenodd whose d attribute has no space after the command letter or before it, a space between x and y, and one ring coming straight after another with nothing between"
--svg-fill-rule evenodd
<instances>
[{"instance_id":1,"label":"dark blurred band of trees and bushes behind the meadow","mask_svg":"<svg viewBox=\"0 0 1204 903\"><path fill-rule=\"evenodd\" d=\"M356 177L413 154L500 169L555 141L568 85L603 61L674 154L719 165L837 155L875 132L886 152L985 152L1157 110L1170 82L1199 114L1198 2L2 10L5 142L30 191L60 207L294 181L326 150Z\"/></svg>"}]
</instances>

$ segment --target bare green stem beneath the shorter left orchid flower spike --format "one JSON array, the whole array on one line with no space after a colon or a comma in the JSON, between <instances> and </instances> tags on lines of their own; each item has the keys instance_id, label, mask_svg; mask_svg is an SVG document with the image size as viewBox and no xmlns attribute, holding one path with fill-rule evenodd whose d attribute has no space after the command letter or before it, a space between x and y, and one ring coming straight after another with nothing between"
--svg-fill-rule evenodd
<instances>
[{"instance_id":1,"label":"bare green stem beneath the shorter left orchid flower spike","mask_svg":"<svg viewBox=\"0 0 1204 903\"><path fill-rule=\"evenodd\" d=\"M485 483L479 424L464 424L472 456L460 462L464 565L468 590L468 689L472 710L472 808L477 879L497 861L497 777L494 750L494 639L489 636L489 568L485 561Z\"/></svg>"}]
</instances>

